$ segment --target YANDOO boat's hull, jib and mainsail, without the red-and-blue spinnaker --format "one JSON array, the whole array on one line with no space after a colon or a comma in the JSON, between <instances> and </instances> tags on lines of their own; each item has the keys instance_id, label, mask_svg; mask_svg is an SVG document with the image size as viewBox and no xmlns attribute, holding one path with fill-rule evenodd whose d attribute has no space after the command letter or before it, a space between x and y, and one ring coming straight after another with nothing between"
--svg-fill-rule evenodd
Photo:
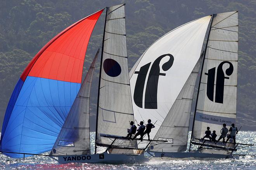
<instances>
[{"instance_id":1,"label":"YANDOO boat's hull, jib and mainsail, without the red-and-blue spinnaker","mask_svg":"<svg viewBox=\"0 0 256 170\"><path fill-rule=\"evenodd\" d=\"M90 69L95 67L96 59L97 55ZM94 154L90 151L89 138L90 83L88 82L92 80L92 72L87 73L50 156L57 156L59 163L147 161L148 159L143 155L144 150L137 147L137 141L124 137L130 127L129 121L134 121L126 53L124 4L106 8Z\"/></svg>"}]
</instances>

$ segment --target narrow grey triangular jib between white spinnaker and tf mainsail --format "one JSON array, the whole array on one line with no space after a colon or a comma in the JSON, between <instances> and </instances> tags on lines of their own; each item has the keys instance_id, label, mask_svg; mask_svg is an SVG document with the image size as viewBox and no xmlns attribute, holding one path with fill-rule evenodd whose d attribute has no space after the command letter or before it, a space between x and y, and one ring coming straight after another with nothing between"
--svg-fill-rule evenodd
<instances>
[{"instance_id":1,"label":"narrow grey triangular jib between white spinnaker and tf mainsail","mask_svg":"<svg viewBox=\"0 0 256 170\"><path fill-rule=\"evenodd\" d=\"M187 150L190 110L203 54L204 52L154 137L154 140L167 140L167 142L152 142L151 146L154 147L149 148L150 151L183 152Z\"/></svg>"}]
</instances>

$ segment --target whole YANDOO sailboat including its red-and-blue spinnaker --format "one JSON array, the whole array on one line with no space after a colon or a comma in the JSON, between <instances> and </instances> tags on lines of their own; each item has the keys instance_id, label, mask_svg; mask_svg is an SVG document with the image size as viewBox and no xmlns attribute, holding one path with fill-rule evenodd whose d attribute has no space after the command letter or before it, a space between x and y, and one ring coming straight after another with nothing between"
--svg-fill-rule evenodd
<instances>
[{"instance_id":1,"label":"whole YANDOO sailboat including its red-and-blue spinnaker","mask_svg":"<svg viewBox=\"0 0 256 170\"><path fill-rule=\"evenodd\" d=\"M57 157L59 163L139 163L148 160L144 151L152 140L146 140L147 145L138 148L137 140L125 137L130 121L134 121L125 4L106 7L95 153L91 153L90 87L99 50L81 88L80 84L88 41L104 9L59 33L29 63L7 107L0 152L25 158L50 151L48 156Z\"/></svg>"}]
</instances>

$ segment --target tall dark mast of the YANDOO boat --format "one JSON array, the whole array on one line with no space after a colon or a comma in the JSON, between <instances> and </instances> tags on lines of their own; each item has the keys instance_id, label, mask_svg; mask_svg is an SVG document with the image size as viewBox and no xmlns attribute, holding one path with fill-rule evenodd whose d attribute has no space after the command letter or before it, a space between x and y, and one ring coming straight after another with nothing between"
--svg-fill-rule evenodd
<instances>
[{"instance_id":1,"label":"tall dark mast of the YANDOO boat","mask_svg":"<svg viewBox=\"0 0 256 170\"><path fill-rule=\"evenodd\" d=\"M102 38L102 48L101 48L101 57L100 57L100 74L99 74L99 87L98 87L98 100L97 100L97 113L96 113L96 132L95 132L95 151L97 149L97 132L98 132L98 115L99 115L99 97L100 97L100 77L101 77L101 68L102 68L102 56L104 51L104 41L105 41L105 29L106 29L106 21L107 21L107 7L106 7L106 16L105 16L105 24Z\"/></svg>"}]
</instances>

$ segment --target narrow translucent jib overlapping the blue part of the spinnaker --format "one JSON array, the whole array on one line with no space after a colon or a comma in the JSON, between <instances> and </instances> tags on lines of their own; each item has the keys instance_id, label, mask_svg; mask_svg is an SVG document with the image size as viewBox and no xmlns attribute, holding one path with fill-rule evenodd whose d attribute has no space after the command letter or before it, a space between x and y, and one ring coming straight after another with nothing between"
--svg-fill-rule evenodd
<instances>
[{"instance_id":1,"label":"narrow translucent jib overlapping the blue part of the spinnaker","mask_svg":"<svg viewBox=\"0 0 256 170\"><path fill-rule=\"evenodd\" d=\"M90 89L97 51L50 155L90 154Z\"/></svg>"}]
</instances>

